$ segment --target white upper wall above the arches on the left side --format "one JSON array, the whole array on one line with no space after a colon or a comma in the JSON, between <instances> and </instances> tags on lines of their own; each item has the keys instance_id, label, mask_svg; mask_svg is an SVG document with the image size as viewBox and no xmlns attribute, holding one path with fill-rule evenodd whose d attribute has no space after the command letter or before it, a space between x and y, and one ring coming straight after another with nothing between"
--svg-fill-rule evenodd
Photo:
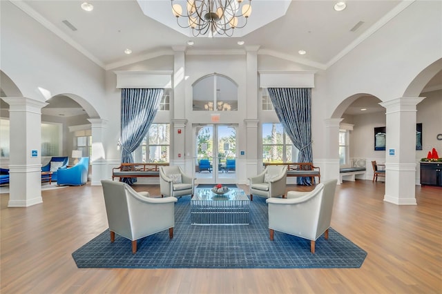
<instances>
[{"instance_id":1,"label":"white upper wall above the arches on the left side","mask_svg":"<svg viewBox=\"0 0 442 294\"><path fill-rule=\"evenodd\" d=\"M102 68L9 1L1 1L0 21L1 70L24 97L45 101L72 93L88 101L82 105L88 114L106 117ZM50 97L41 95L39 88L48 90Z\"/></svg>"}]
</instances>

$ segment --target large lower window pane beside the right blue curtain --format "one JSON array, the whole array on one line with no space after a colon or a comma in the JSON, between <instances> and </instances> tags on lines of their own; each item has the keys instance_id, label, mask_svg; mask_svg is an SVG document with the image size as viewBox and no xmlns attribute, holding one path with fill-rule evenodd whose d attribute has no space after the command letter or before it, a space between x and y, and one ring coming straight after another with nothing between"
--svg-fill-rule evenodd
<instances>
[{"instance_id":1,"label":"large lower window pane beside the right blue curtain","mask_svg":"<svg viewBox=\"0 0 442 294\"><path fill-rule=\"evenodd\" d=\"M298 149L291 143L282 124L262 124L262 161L296 162Z\"/></svg>"}]
</instances>

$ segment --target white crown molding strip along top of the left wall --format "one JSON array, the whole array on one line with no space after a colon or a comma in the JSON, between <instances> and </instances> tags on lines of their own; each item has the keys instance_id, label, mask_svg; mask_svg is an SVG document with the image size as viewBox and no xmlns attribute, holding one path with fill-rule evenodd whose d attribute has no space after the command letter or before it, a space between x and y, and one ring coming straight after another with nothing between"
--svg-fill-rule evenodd
<instances>
[{"instance_id":1,"label":"white crown molding strip along top of the left wall","mask_svg":"<svg viewBox=\"0 0 442 294\"><path fill-rule=\"evenodd\" d=\"M66 35L63 31L61 31L59 28L54 26L50 21L48 21L46 18L44 18L41 14L39 14L37 11L33 10L28 6L28 4L24 3L21 0L10 0L10 3L17 6L19 9L21 9L23 12L28 14L32 19L35 19L37 22L39 22L42 26L53 32L57 37L68 43L70 46L73 46L73 48L77 49L81 54L88 57L91 61L97 64L97 66L101 68L105 68L105 65L102 61L100 61L97 57L95 57L92 53L90 53L88 50L86 50L83 46L81 46L79 43L75 42L72 38L70 38L68 35Z\"/></svg>"}]
</instances>

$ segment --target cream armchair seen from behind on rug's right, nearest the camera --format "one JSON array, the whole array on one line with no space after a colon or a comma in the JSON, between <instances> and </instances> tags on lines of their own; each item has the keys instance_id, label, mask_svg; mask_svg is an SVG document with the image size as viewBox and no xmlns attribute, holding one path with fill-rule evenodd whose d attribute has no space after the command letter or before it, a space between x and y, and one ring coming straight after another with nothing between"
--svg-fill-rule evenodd
<instances>
[{"instance_id":1,"label":"cream armchair seen from behind on rug's right, nearest the camera","mask_svg":"<svg viewBox=\"0 0 442 294\"><path fill-rule=\"evenodd\" d=\"M311 192L289 191L287 199L267 199L270 239L273 231L309 239L310 251L315 253L316 239L323 234L328 239L337 182L318 184Z\"/></svg>"}]
</instances>

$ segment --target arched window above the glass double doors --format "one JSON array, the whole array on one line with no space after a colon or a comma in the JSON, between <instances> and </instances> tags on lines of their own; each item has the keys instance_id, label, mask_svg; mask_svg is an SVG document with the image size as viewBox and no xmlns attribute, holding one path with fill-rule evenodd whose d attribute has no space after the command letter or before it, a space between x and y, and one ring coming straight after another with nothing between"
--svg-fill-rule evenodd
<instances>
[{"instance_id":1,"label":"arched window above the glass double doors","mask_svg":"<svg viewBox=\"0 0 442 294\"><path fill-rule=\"evenodd\" d=\"M238 110L238 85L229 77L213 73L195 81L193 110Z\"/></svg>"}]
</instances>

